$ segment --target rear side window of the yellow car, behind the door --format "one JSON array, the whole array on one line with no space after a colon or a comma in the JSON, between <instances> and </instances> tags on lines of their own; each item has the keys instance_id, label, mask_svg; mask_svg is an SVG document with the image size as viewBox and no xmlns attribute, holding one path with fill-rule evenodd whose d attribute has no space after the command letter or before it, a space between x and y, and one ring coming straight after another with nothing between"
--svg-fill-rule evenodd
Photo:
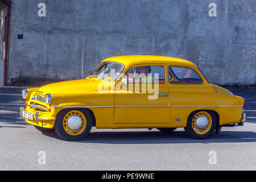
<instances>
[{"instance_id":1,"label":"rear side window of the yellow car, behind the door","mask_svg":"<svg viewBox=\"0 0 256 182\"><path fill-rule=\"evenodd\" d=\"M187 67L169 67L169 81L171 84L201 84L202 78L196 71Z\"/></svg>"}]
</instances>

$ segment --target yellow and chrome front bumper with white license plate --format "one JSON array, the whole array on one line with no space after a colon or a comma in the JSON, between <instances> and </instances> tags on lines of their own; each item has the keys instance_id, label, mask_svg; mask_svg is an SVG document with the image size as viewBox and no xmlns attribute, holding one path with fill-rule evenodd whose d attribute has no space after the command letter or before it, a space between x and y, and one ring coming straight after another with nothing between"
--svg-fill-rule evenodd
<instances>
[{"instance_id":1,"label":"yellow and chrome front bumper with white license plate","mask_svg":"<svg viewBox=\"0 0 256 182\"><path fill-rule=\"evenodd\" d=\"M32 125L45 127L48 129L52 129L54 127L56 117L54 115L48 115L44 113L39 113L38 111L24 109L24 107L20 107L20 117L23 117L23 111L33 114L33 120L25 118L27 123Z\"/></svg>"}]
</instances>

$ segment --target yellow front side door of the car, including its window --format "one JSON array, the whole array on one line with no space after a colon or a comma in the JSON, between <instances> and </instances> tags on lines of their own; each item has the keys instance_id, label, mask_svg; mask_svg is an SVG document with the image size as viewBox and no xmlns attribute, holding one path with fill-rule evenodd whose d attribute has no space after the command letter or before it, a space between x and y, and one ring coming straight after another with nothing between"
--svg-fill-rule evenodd
<instances>
[{"instance_id":1,"label":"yellow front side door of the car, including its window","mask_svg":"<svg viewBox=\"0 0 256 182\"><path fill-rule=\"evenodd\" d=\"M150 67L150 73L143 75L142 67ZM114 123L170 122L167 79L166 65L136 65L130 68L115 87Z\"/></svg>"}]
</instances>

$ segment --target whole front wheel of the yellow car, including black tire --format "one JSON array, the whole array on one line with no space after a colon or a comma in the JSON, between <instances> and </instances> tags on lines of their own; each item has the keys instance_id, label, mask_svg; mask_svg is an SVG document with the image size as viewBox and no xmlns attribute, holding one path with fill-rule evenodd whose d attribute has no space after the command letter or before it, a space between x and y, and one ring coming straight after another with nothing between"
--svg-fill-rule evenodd
<instances>
[{"instance_id":1,"label":"whole front wheel of the yellow car, including black tire","mask_svg":"<svg viewBox=\"0 0 256 182\"><path fill-rule=\"evenodd\" d=\"M64 140L82 140L92 129L92 115L86 109L65 109L57 115L55 129Z\"/></svg>"}]
</instances>

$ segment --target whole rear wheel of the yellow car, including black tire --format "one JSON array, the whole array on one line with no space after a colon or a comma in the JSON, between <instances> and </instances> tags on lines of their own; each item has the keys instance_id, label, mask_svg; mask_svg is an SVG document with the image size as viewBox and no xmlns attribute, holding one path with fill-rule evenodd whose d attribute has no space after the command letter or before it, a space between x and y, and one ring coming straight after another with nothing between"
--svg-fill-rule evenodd
<instances>
[{"instance_id":1,"label":"whole rear wheel of the yellow car, including black tire","mask_svg":"<svg viewBox=\"0 0 256 182\"><path fill-rule=\"evenodd\" d=\"M216 126L216 114L213 111L200 110L189 115L187 126L184 129L193 139L206 139L214 133Z\"/></svg>"}]
</instances>

